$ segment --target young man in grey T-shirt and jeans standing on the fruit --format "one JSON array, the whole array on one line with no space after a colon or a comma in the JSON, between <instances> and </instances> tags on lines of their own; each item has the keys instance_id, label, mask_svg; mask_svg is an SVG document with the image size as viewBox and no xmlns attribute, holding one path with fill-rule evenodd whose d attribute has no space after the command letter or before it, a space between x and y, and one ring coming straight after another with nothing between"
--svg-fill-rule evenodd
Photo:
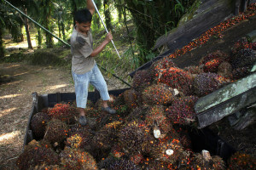
<instances>
[{"instance_id":1,"label":"young man in grey T-shirt and jeans standing on the fruit","mask_svg":"<svg viewBox=\"0 0 256 170\"><path fill-rule=\"evenodd\" d=\"M113 37L111 32L108 33L105 40L97 47L93 48L91 36L91 19L95 8L91 0L87 0L87 8L79 10L75 16L76 26L73 28L71 36L71 52L72 59L72 75L75 85L76 102L79 111L79 123L84 126L86 124L85 111L88 97L88 87L91 83L101 94L103 100L102 111L115 114L116 111L108 107L108 87L101 71L96 65L94 57L102 52Z\"/></svg>"}]
</instances>

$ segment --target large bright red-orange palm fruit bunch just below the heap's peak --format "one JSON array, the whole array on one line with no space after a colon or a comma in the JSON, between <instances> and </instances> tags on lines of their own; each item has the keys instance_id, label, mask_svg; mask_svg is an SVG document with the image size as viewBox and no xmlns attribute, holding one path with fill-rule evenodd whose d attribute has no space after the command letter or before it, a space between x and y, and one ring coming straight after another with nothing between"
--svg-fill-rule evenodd
<instances>
[{"instance_id":1,"label":"large bright red-orange palm fruit bunch just below the heap's peak","mask_svg":"<svg viewBox=\"0 0 256 170\"><path fill-rule=\"evenodd\" d=\"M187 71L171 67L160 72L158 77L159 82L163 82L171 88L177 88L185 95L191 94L192 77Z\"/></svg>"}]
</instances>

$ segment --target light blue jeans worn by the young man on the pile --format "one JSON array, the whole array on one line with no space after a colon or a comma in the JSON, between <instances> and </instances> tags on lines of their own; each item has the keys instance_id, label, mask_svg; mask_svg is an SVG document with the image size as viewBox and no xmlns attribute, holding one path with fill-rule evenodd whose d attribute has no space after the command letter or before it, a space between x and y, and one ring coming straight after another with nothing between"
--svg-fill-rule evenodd
<instances>
[{"instance_id":1,"label":"light blue jeans worn by the young man on the pile","mask_svg":"<svg viewBox=\"0 0 256 170\"><path fill-rule=\"evenodd\" d=\"M72 76L75 85L77 107L86 108L89 82L100 92L102 100L109 99L107 83L97 65L91 71L82 75L72 72Z\"/></svg>"}]
</instances>

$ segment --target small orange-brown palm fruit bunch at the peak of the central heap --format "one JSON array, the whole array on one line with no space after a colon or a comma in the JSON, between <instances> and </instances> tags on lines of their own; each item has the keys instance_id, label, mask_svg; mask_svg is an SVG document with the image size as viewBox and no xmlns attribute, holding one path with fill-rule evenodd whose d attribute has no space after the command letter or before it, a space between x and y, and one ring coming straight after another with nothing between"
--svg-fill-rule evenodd
<instances>
[{"instance_id":1,"label":"small orange-brown palm fruit bunch at the peak of the central heap","mask_svg":"<svg viewBox=\"0 0 256 170\"><path fill-rule=\"evenodd\" d=\"M170 57L165 57L163 59L159 59L155 61L151 66L150 70L153 72L153 74L158 74L162 71L166 71L171 67L175 67L175 64L173 63L172 59Z\"/></svg>"}]
</instances>

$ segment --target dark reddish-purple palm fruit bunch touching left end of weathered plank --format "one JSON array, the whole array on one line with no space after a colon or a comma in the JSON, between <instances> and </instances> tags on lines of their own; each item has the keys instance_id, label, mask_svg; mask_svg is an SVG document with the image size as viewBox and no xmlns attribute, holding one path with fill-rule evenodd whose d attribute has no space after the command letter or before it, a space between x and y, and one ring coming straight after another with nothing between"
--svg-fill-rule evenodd
<instances>
[{"instance_id":1,"label":"dark reddish-purple palm fruit bunch touching left end of weathered plank","mask_svg":"<svg viewBox=\"0 0 256 170\"><path fill-rule=\"evenodd\" d=\"M178 98L172 102L172 105L166 110L166 115L172 123L189 124L195 121L194 105L198 97L186 96Z\"/></svg>"}]
</instances>

